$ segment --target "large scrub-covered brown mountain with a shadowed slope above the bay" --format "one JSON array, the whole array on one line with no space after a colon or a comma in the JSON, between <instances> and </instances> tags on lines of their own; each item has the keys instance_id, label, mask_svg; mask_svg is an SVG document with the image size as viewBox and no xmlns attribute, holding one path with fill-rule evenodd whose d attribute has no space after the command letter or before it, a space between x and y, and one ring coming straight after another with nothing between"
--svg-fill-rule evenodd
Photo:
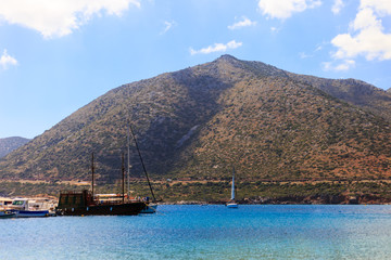
<instances>
[{"instance_id":1,"label":"large scrub-covered brown mountain with a shadowed slope above the bay","mask_svg":"<svg viewBox=\"0 0 391 260\"><path fill-rule=\"evenodd\" d=\"M131 122L155 180L391 177L391 94L230 55L121 86L0 160L7 180L121 178ZM131 143L131 174L142 168Z\"/></svg>"}]
</instances>

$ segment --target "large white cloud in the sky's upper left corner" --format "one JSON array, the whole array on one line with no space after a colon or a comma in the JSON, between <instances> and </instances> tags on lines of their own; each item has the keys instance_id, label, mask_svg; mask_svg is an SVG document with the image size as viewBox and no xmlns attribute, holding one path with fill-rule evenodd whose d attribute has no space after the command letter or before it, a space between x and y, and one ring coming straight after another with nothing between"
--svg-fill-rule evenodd
<instances>
[{"instance_id":1,"label":"large white cloud in the sky's upper left corner","mask_svg":"<svg viewBox=\"0 0 391 260\"><path fill-rule=\"evenodd\" d=\"M2 0L0 21L38 30L45 38L63 37L105 11L119 16L140 0Z\"/></svg>"}]
</instances>

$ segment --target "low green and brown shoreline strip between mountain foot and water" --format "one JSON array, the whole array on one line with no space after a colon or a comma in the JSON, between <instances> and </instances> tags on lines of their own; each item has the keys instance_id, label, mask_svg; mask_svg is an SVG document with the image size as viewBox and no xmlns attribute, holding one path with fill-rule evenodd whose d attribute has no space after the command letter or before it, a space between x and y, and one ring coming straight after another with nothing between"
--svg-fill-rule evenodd
<instances>
[{"instance_id":1,"label":"low green and brown shoreline strip between mountain foot and water","mask_svg":"<svg viewBox=\"0 0 391 260\"><path fill-rule=\"evenodd\" d=\"M0 197L55 197L60 191L88 190L89 185L0 181ZM85 184L85 183L83 183ZM153 182L157 197L168 205L224 205L230 197L229 181L219 182ZM134 182L134 196L150 194L144 182ZM289 183L238 182L237 203L242 205L388 205L391 183L386 181L352 181ZM121 193L114 183L100 185L98 193ZM148 195L147 195L148 196Z\"/></svg>"}]
</instances>

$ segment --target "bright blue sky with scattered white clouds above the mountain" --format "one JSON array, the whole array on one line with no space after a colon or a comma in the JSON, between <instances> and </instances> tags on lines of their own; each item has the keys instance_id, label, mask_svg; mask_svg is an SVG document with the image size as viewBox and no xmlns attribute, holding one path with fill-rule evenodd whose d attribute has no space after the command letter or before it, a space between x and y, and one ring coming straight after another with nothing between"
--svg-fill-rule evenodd
<instances>
[{"instance_id":1,"label":"bright blue sky with scattered white clouds above the mountain","mask_svg":"<svg viewBox=\"0 0 391 260\"><path fill-rule=\"evenodd\" d=\"M223 54L391 88L390 0L0 0L0 139Z\"/></svg>"}]
</instances>

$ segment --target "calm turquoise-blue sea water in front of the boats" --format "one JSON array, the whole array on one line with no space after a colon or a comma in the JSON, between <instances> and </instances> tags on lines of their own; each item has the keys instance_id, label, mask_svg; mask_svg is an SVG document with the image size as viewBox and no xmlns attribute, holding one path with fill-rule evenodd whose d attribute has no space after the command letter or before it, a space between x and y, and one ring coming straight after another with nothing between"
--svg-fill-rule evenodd
<instances>
[{"instance_id":1,"label":"calm turquoise-blue sea water in front of the boats","mask_svg":"<svg viewBox=\"0 0 391 260\"><path fill-rule=\"evenodd\" d=\"M0 259L390 259L391 206L160 206L0 221Z\"/></svg>"}]
</instances>

